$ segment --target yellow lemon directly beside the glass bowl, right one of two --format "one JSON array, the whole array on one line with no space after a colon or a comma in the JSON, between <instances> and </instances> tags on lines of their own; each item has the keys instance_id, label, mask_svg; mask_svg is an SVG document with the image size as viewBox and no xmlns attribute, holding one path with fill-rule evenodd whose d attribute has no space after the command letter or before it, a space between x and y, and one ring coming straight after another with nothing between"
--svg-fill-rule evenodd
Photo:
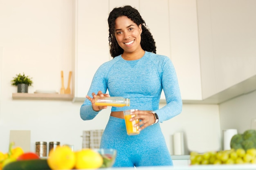
<instances>
[{"instance_id":1,"label":"yellow lemon directly beside the glass bowl, right one of two","mask_svg":"<svg viewBox=\"0 0 256 170\"><path fill-rule=\"evenodd\" d=\"M103 158L92 149L82 149L76 152L76 169L97 169L103 164Z\"/></svg>"}]
</instances>

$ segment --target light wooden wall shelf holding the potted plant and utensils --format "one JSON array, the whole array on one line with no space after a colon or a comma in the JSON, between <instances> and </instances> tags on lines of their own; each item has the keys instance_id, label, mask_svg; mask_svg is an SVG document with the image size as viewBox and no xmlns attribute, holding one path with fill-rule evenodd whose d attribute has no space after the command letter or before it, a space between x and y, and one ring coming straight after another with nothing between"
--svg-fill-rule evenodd
<instances>
[{"instance_id":1,"label":"light wooden wall shelf holding the potted plant and utensils","mask_svg":"<svg viewBox=\"0 0 256 170\"><path fill-rule=\"evenodd\" d=\"M13 99L28 100L67 100L72 101L72 94L47 94L47 93L12 93Z\"/></svg>"}]
</instances>

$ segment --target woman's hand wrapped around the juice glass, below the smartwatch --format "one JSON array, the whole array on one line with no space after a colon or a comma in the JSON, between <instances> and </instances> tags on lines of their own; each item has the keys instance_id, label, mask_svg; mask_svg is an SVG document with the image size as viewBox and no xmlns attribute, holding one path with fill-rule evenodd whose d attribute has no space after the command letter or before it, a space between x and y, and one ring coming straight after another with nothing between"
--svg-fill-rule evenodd
<instances>
[{"instance_id":1,"label":"woman's hand wrapped around the juice glass, below the smartwatch","mask_svg":"<svg viewBox=\"0 0 256 170\"><path fill-rule=\"evenodd\" d=\"M153 125L155 123L155 116L151 111L143 111L143 110L136 110L132 112L131 115L137 115L135 117L130 118L130 121L135 119L139 119L139 123L135 124L134 126L140 126L139 131L143 130L144 128Z\"/></svg>"}]
</instances>

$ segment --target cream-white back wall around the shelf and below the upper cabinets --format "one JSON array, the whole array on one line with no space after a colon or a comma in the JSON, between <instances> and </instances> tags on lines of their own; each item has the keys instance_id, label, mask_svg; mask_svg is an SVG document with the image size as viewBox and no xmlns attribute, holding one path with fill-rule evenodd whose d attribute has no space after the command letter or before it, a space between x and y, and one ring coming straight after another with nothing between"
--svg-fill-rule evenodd
<instances>
[{"instance_id":1,"label":"cream-white back wall around the shelf and below the upper cabinets","mask_svg":"<svg viewBox=\"0 0 256 170\"><path fill-rule=\"evenodd\" d=\"M110 108L93 120L83 121L79 115L82 103L13 100L11 97L17 91L17 87L11 86L11 79L18 73L33 77L34 85L29 87L29 93L38 89L59 92L61 70L66 86L74 57L72 5L71 0L0 0L2 152L8 150L10 130L31 130L31 151L35 150L36 141L60 141L61 144L73 144L78 150L82 147L83 130L106 126ZM161 126L170 152L171 135L180 131L187 139L186 154L188 146L193 150L200 146L204 150L220 148L218 105L184 104L180 115Z\"/></svg>"}]
</instances>

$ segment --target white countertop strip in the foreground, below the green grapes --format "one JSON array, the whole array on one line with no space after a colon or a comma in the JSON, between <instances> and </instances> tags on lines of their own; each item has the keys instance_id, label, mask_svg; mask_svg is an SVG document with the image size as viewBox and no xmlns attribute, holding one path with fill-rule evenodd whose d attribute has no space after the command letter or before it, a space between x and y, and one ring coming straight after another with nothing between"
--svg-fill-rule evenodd
<instances>
[{"instance_id":1,"label":"white countertop strip in the foreground, below the green grapes","mask_svg":"<svg viewBox=\"0 0 256 170\"><path fill-rule=\"evenodd\" d=\"M256 164L243 165L194 165L194 166L150 166L137 168L106 168L106 170L256 170ZM105 170L105 169L102 169Z\"/></svg>"}]
</instances>

